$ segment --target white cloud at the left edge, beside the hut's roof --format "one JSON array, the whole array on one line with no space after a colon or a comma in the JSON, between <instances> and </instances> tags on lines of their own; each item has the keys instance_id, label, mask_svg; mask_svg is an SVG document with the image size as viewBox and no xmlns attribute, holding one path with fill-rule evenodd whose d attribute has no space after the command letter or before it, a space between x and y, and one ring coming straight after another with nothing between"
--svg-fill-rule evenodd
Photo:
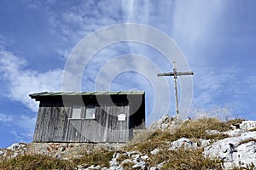
<instances>
[{"instance_id":1,"label":"white cloud at the left edge, beside the hut's roof","mask_svg":"<svg viewBox=\"0 0 256 170\"><path fill-rule=\"evenodd\" d=\"M60 91L60 69L46 72L26 69L27 62L3 48L0 49L0 74L8 88L8 97L26 105L32 111L38 111L38 105L28 97L29 94L42 91Z\"/></svg>"}]
</instances>

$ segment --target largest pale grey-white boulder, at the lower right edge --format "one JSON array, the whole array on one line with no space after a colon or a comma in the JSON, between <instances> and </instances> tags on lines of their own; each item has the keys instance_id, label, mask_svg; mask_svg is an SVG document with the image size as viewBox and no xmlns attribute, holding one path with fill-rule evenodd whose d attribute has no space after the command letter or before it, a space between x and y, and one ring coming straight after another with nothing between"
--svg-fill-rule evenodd
<instances>
[{"instance_id":1,"label":"largest pale grey-white boulder, at the lower right edge","mask_svg":"<svg viewBox=\"0 0 256 170\"><path fill-rule=\"evenodd\" d=\"M247 164L256 165L256 132L241 133L239 137L218 140L207 146L204 156L224 161L224 167L246 167Z\"/></svg>"}]
</instances>

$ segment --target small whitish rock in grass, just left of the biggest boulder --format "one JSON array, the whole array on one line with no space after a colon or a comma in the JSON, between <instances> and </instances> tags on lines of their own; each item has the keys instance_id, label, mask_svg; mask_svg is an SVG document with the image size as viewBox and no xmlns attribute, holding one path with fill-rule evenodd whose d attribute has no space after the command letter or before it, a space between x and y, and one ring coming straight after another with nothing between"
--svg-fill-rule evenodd
<instances>
[{"instance_id":1,"label":"small whitish rock in grass, just left of the biggest boulder","mask_svg":"<svg viewBox=\"0 0 256 170\"><path fill-rule=\"evenodd\" d=\"M177 150L183 147L184 149L197 149L197 143L192 142L190 139L181 138L171 143L169 150Z\"/></svg>"}]
</instances>

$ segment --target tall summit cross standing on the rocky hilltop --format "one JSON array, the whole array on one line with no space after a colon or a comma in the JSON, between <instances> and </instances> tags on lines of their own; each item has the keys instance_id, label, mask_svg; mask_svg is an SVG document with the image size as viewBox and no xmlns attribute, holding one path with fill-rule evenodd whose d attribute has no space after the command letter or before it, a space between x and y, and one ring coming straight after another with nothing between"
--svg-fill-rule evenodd
<instances>
[{"instance_id":1,"label":"tall summit cross standing on the rocky hilltop","mask_svg":"<svg viewBox=\"0 0 256 170\"><path fill-rule=\"evenodd\" d=\"M178 112L178 100L177 100L177 76L194 75L193 71L177 72L176 61L173 61L173 72L158 73L158 77L173 76L174 77L174 89L175 89L175 101L176 101L176 116L179 116Z\"/></svg>"}]
</instances>

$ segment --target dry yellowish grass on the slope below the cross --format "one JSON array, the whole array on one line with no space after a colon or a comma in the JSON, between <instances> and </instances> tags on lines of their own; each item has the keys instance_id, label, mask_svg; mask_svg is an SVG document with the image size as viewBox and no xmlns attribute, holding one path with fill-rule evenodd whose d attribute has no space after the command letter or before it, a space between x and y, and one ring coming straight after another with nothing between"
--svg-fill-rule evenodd
<instances>
[{"instance_id":1,"label":"dry yellowish grass on the slope below the cross","mask_svg":"<svg viewBox=\"0 0 256 170\"><path fill-rule=\"evenodd\" d=\"M125 150L138 150L143 154L149 154L155 148L163 150L170 147L170 142L180 138L188 139L212 139L219 140L229 137L228 134L207 133L207 130L217 130L224 132L230 129L232 122L221 122L217 118L201 118L198 120L189 120L183 122L172 133L170 131L157 130L154 133L147 133L148 138L137 143L128 144Z\"/></svg>"}]
</instances>

